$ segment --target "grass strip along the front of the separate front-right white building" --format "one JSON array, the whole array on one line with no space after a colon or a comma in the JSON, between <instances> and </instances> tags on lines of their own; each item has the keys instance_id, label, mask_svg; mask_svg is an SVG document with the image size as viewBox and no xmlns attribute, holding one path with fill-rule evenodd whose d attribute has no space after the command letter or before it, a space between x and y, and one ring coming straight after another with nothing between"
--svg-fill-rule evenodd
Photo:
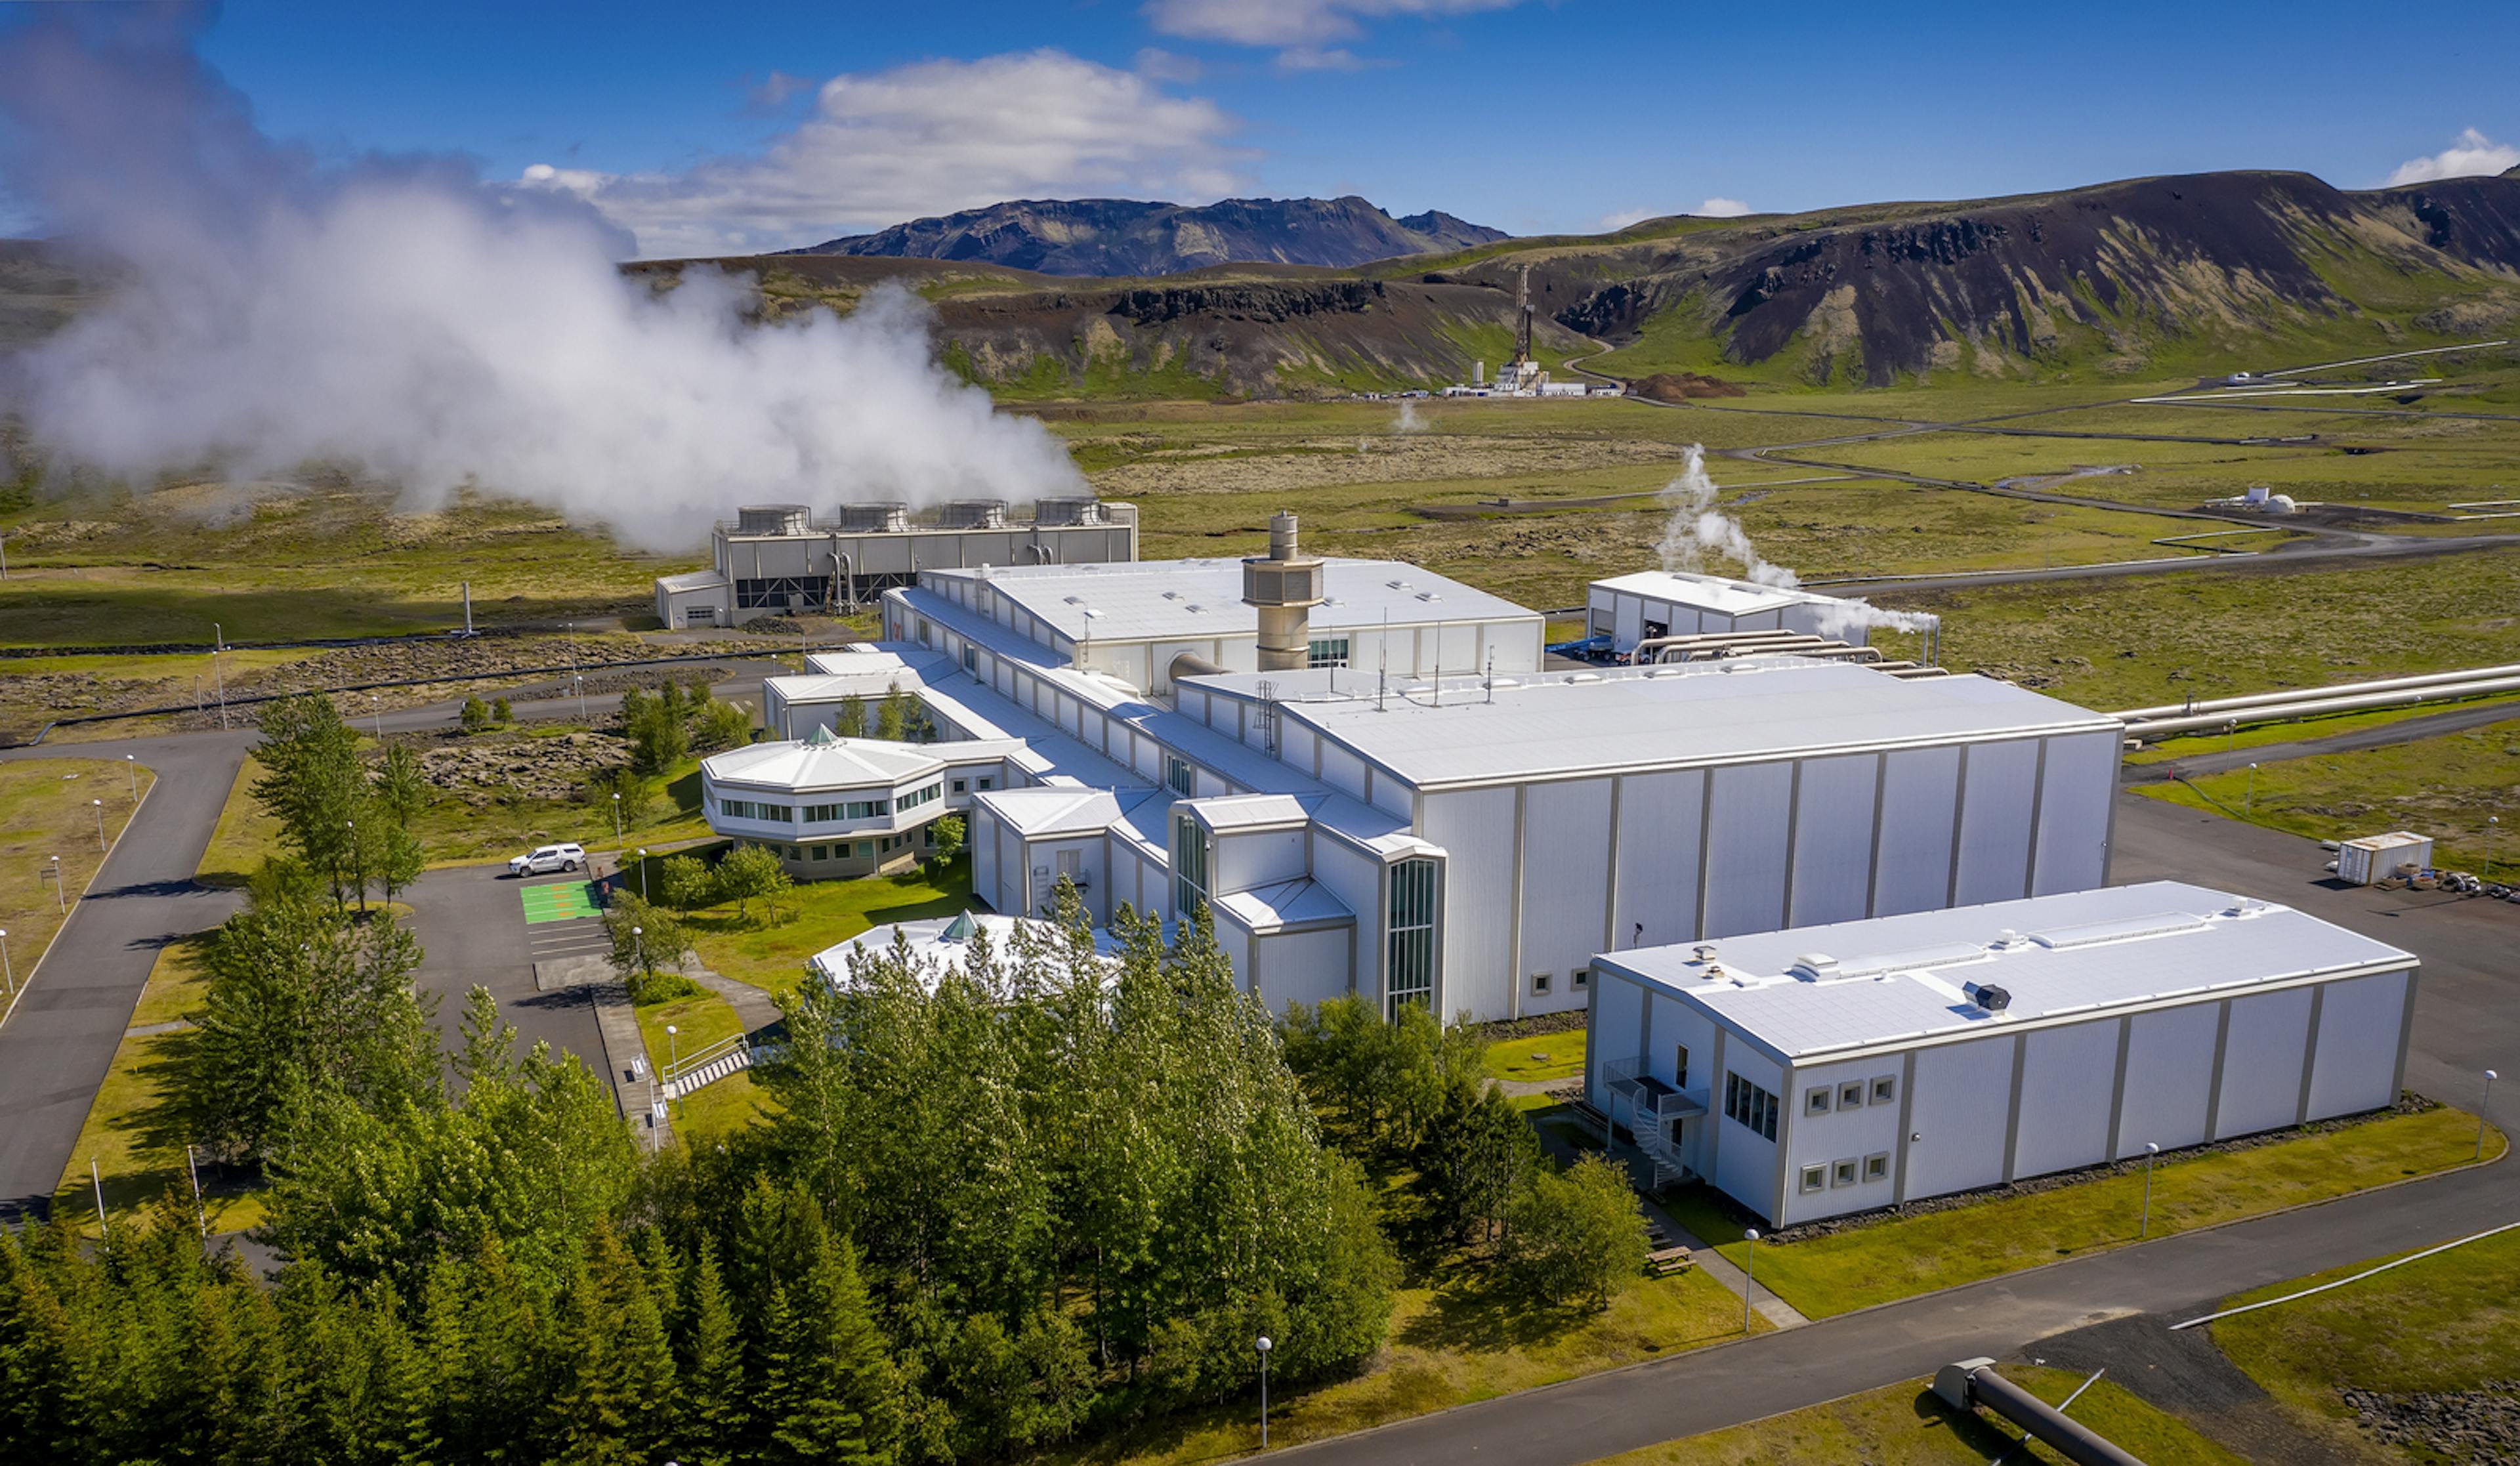
<instances>
[{"instance_id":1,"label":"grass strip along the front of the separate front-right white building","mask_svg":"<svg viewBox=\"0 0 2520 1466\"><path fill-rule=\"evenodd\" d=\"M2152 1237L2465 1166L2475 1144L2477 1116L2442 1106L2245 1151L2165 1156L2152 1171ZM2495 1131L2485 1146L2487 1159L2502 1144ZM2051 1191L1993 1194L1971 1207L1895 1217L1835 1237L1761 1242L1759 1282L1809 1317L1850 1312L2127 1247L2137 1242L2142 1196L2145 1171L2134 1166ZM1741 1264L1741 1224L1726 1219L1704 1191L1681 1194L1668 1212L1709 1242L1729 1237L1716 1249Z\"/></svg>"}]
</instances>

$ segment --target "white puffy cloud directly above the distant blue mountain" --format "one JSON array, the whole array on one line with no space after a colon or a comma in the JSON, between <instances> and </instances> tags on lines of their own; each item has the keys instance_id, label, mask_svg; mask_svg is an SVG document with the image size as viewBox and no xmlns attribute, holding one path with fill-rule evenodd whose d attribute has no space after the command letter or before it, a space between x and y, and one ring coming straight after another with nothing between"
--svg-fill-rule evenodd
<instances>
[{"instance_id":1,"label":"white puffy cloud directly above the distant blue mountain","mask_svg":"<svg viewBox=\"0 0 2520 1466\"><path fill-rule=\"evenodd\" d=\"M811 116L756 156L673 174L534 164L522 184L595 204L643 257L746 254L1000 199L1217 199L1247 186L1235 128L1144 65L1026 50L834 76Z\"/></svg>"}]
</instances>

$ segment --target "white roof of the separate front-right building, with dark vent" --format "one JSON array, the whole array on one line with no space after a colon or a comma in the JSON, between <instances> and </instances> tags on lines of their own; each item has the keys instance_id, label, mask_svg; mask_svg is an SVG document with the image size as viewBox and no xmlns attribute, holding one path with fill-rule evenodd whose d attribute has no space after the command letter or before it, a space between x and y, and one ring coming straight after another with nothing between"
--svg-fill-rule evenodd
<instances>
[{"instance_id":1,"label":"white roof of the separate front-right building, with dark vent","mask_svg":"<svg viewBox=\"0 0 2520 1466\"><path fill-rule=\"evenodd\" d=\"M1638 947L1595 962L1696 1003L1784 1060L2417 965L2293 907L2185 882ZM2003 987L2011 1003L1988 1013L1968 1000L1968 982Z\"/></svg>"}]
</instances>

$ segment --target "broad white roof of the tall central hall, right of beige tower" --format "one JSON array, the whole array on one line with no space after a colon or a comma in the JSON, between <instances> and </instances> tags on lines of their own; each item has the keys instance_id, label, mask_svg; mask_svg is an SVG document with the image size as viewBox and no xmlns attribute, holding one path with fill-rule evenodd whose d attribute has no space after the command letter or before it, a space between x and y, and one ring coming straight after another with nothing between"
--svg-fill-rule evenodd
<instances>
[{"instance_id":1,"label":"broad white roof of the tall central hall, right of beige tower","mask_svg":"<svg viewBox=\"0 0 2520 1466\"><path fill-rule=\"evenodd\" d=\"M2109 730L2117 718L1993 678L1890 678L1857 662L1734 657L1678 668L1389 683L1270 673L1288 718L1419 786L1799 758L1852 748ZM1260 675L1194 685L1257 698Z\"/></svg>"}]
</instances>

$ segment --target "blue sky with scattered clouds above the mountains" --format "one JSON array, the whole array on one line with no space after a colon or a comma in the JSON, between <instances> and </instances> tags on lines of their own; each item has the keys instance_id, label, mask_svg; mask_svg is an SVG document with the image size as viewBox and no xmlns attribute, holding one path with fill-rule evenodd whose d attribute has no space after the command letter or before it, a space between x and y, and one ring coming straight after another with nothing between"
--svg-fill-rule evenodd
<instances>
[{"instance_id":1,"label":"blue sky with scattered clouds above the mountains","mask_svg":"<svg viewBox=\"0 0 2520 1466\"><path fill-rule=\"evenodd\" d=\"M1011 194L1353 191L1525 234L1709 202L2520 161L2515 5L2399 28L2369 3L2192 0L237 0L199 48L272 136L466 154L592 199L643 254Z\"/></svg>"}]
</instances>

